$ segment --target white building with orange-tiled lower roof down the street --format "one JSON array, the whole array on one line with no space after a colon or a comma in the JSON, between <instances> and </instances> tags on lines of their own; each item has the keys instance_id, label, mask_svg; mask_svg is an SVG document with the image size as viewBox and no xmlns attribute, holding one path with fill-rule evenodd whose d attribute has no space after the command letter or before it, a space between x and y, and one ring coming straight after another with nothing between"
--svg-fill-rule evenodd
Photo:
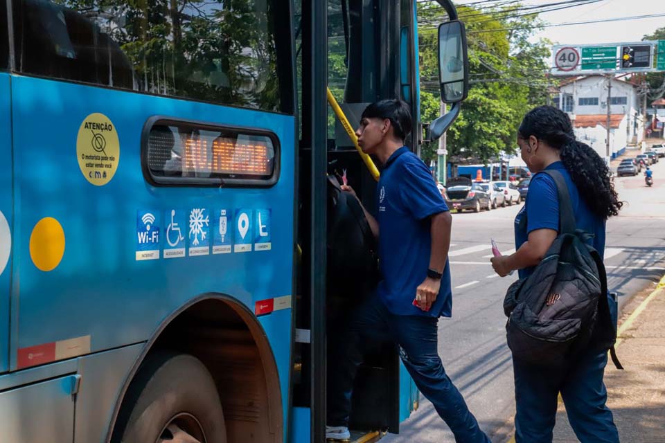
<instances>
[{"instance_id":1,"label":"white building with orange-tiled lower roof down the street","mask_svg":"<svg viewBox=\"0 0 665 443\"><path fill-rule=\"evenodd\" d=\"M554 105L567 112L577 138L607 155L605 141L608 125L608 84L610 93L610 156L621 153L626 145L642 141L643 117L638 84L626 75L609 80L589 75L565 80L559 87Z\"/></svg>"}]
</instances>

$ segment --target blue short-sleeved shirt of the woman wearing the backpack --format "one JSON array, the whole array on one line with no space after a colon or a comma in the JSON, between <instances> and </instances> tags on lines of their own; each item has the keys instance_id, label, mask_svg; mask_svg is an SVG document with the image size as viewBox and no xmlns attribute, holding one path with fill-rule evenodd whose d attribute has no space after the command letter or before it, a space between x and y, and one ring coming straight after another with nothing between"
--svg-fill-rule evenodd
<instances>
[{"instance_id":1,"label":"blue short-sleeved shirt of the woman wearing the backpack","mask_svg":"<svg viewBox=\"0 0 665 443\"><path fill-rule=\"evenodd\" d=\"M558 170L562 174L568 186L577 228L593 235L589 239L589 244L594 246L602 258L605 253L605 220L591 212L580 197L577 186L562 162L552 163L545 169ZM526 227L523 228L521 221L524 215L526 215ZM538 229L559 230L559 197L556 183L547 174L535 174L529 183L526 203L515 217L515 248L519 249L529 239L529 233ZM521 269L520 278L529 277L533 269L533 267Z\"/></svg>"}]
</instances>

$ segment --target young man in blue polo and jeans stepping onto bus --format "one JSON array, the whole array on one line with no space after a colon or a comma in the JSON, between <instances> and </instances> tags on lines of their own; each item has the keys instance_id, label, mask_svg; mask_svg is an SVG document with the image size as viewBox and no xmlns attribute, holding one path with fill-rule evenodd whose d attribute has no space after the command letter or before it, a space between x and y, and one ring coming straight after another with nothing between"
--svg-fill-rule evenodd
<instances>
[{"instance_id":1,"label":"young man in blue polo and jeans stepping onto bus","mask_svg":"<svg viewBox=\"0 0 665 443\"><path fill-rule=\"evenodd\" d=\"M404 145L411 132L409 107L381 100L364 110L356 134L363 152L384 165L378 183L378 217L363 206L379 241L382 280L351 314L344 334L330 340L326 437L349 438L348 419L364 341L389 340L423 395L450 426L455 440L489 443L438 356L438 318L450 317L447 262L452 217L429 169ZM346 192L355 197L350 186ZM357 197L356 197L357 198Z\"/></svg>"}]
</instances>

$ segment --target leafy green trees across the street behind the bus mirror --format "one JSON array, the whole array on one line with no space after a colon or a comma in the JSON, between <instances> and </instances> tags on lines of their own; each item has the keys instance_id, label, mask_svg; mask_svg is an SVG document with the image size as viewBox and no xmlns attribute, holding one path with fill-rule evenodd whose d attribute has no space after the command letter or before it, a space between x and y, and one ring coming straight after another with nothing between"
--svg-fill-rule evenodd
<instances>
[{"instance_id":1,"label":"leafy green trees across the street behind the bus mirror","mask_svg":"<svg viewBox=\"0 0 665 443\"><path fill-rule=\"evenodd\" d=\"M510 8L519 5L511 4ZM419 3L421 115L424 122L439 114L437 33L447 21L433 3ZM470 91L461 114L447 133L453 158L489 161L501 152L514 152L517 127L532 107L548 98L547 57L550 43L533 41L537 15L504 12L505 8L458 8L468 36ZM507 30L520 28L519 30ZM529 28L529 29L524 29ZM480 31L480 32L479 32ZM434 158L435 143L425 143L423 158Z\"/></svg>"}]
</instances>

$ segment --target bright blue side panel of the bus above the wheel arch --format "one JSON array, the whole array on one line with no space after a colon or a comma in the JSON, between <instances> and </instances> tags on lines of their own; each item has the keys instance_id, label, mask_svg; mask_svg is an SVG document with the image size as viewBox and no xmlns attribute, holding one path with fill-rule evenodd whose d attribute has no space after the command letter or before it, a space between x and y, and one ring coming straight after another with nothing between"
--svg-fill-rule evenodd
<instances>
[{"instance_id":1,"label":"bright blue side panel of the bus above the wheel arch","mask_svg":"<svg viewBox=\"0 0 665 443\"><path fill-rule=\"evenodd\" d=\"M260 321L273 346L286 406L294 251L294 117L27 77L12 78L12 93L14 140L21 147L16 153L21 170L16 183L21 195L16 209L16 224L21 227L17 245L23 253L17 258L21 284L15 296L20 299L20 310L12 317L18 336L12 340L11 368L30 365L28 353L38 354L40 362L48 363L44 359L146 341L169 314L204 293L228 294L251 311L260 300L279 298L274 307L282 310L266 314ZM112 123L120 145L117 171L105 186L89 183L76 153L82 123L95 113ZM150 185L141 166L141 133L152 116L274 132L281 145L278 182L270 188ZM215 226L213 209L249 210L255 215L258 209L271 210L272 248L164 259L163 234L170 223L167 214L171 210L187 214L194 208L204 208L209 214L209 235ZM160 229L159 258L136 260L137 231L143 222L141 215L147 212L155 217L153 227ZM30 235L44 217L57 220L65 237L62 261L51 271L38 269L28 251ZM181 223L188 228L186 219ZM50 221L49 226L53 225ZM229 230L236 225L229 220ZM256 220L251 226L254 229ZM191 246L193 237L185 236ZM55 246L45 249L53 253Z\"/></svg>"}]
</instances>

